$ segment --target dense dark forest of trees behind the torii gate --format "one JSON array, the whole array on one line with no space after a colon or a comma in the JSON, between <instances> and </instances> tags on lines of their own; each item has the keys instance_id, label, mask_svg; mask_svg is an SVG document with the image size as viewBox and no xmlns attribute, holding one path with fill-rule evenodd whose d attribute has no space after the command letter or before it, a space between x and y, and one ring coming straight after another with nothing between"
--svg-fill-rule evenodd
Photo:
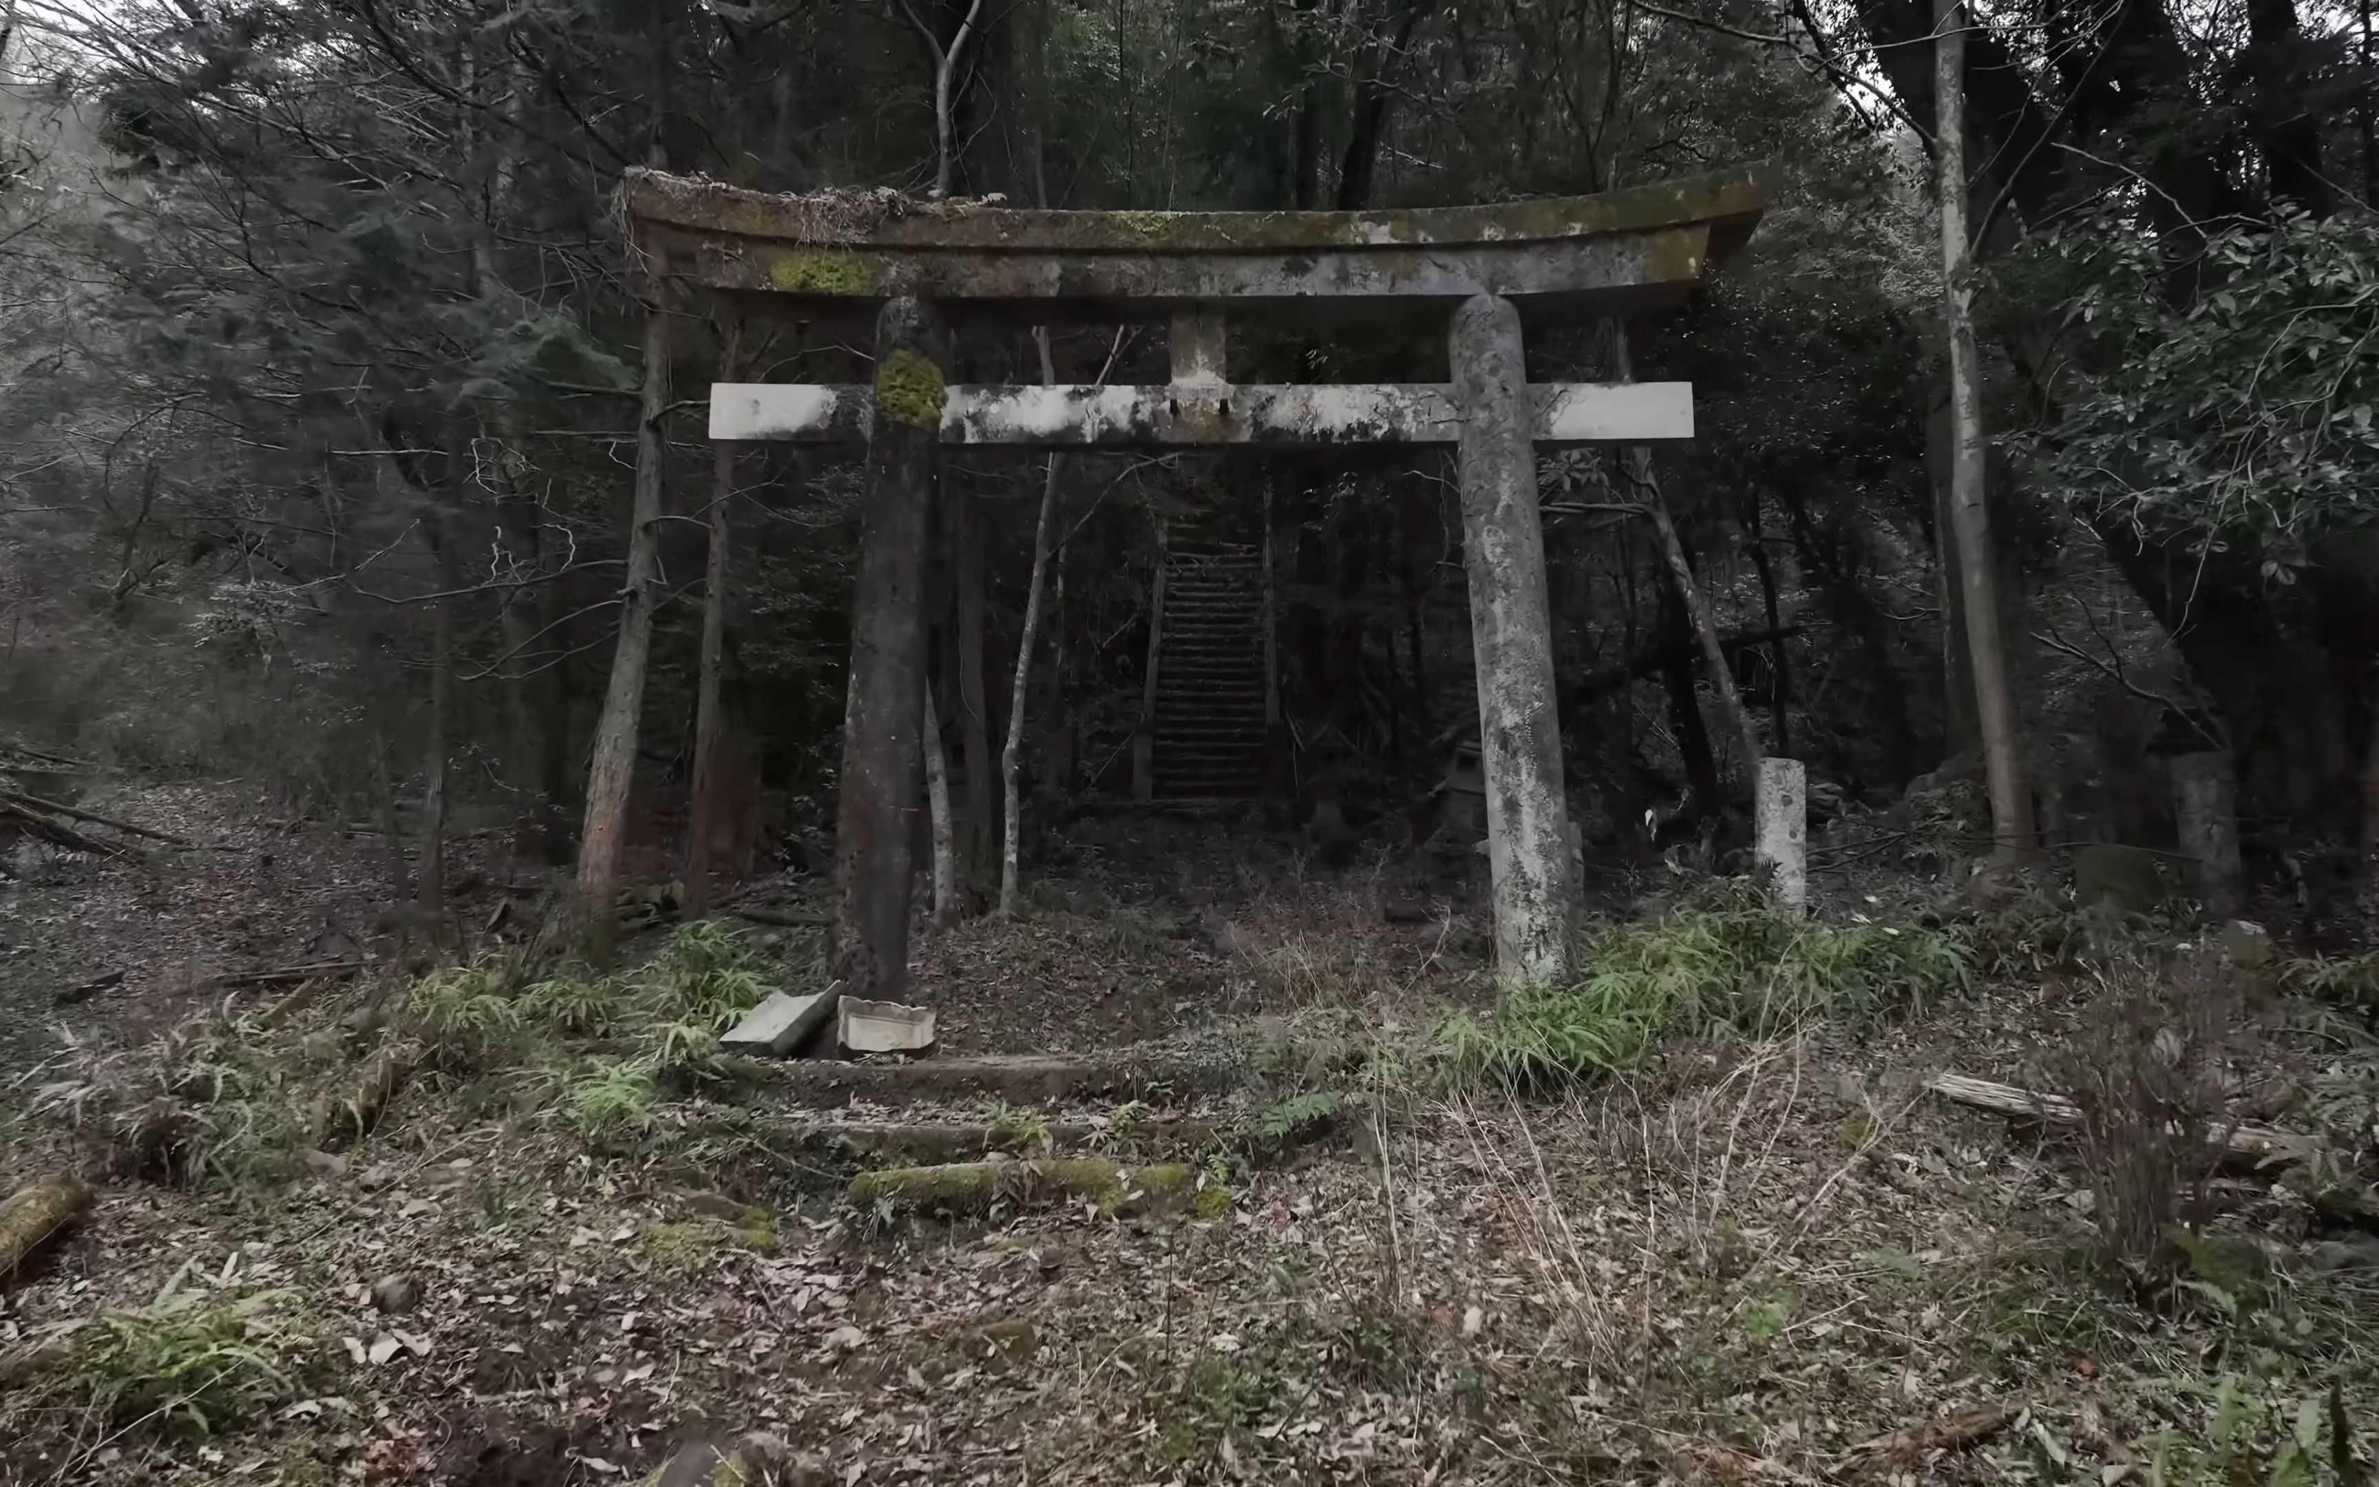
<instances>
[{"instance_id":1,"label":"dense dark forest of trees behind the torii gate","mask_svg":"<svg viewBox=\"0 0 2379 1487\"><path fill-rule=\"evenodd\" d=\"M2374 830L2379 600L2355 495L2369 109L2360 31L2324 24L2272 5L1989 17L1967 45L1963 293L2041 830L2170 847L2165 790L2132 764L2220 749L2251 876L2329 904ZM450 780L576 826L635 462L640 286L611 200L638 162L1099 209L1439 205L1768 164L1777 207L1749 255L1634 326L1637 374L1699 390L1703 438L1653 466L1663 502L1763 749L1877 804L1944 764L1972 773L1932 26L1906 7L19 7L10 711L69 754L262 771L297 804L364 811L385 773L409 799ZM726 335L671 326L680 390ZM1280 381L1394 381L1432 338L1249 355ZM1544 355L1608 376L1611 350L1580 326ZM849 362L740 355L768 381ZM1052 345L1061 381L1125 381L1151 355L1161 335ZM961 359L1035 381L1030 338ZM2234 385L2239 366L2258 374ZM666 719L690 716L699 650L699 404L664 419L688 519L661 538L654 788L692 773ZM1722 709L1706 719L1718 683L1661 542L1601 509L1611 462L1551 462L1546 540L1570 778L1592 835L1630 849L1646 807L1715 811L1741 747ZM935 671L963 780L997 773L1044 476L1061 592L1025 790L1130 790L1156 528L1239 535L1266 507L1289 788L1370 818L1444 773L1470 678L1442 469L1037 466L971 454L949 478ZM730 711L771 790L814 792L837 764L854 462L752 450L726 481ZM994 795L961 788L983 864Z\"/></svg>"}]
</instances>

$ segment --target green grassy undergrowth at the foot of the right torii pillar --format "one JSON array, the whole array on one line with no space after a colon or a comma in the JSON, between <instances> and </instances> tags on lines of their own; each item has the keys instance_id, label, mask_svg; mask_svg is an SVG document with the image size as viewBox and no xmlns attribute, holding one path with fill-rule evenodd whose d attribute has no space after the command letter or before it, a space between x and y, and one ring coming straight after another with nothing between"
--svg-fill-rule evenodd
<instances>
[{"instance_id":1,"label":"green grassy undergrowth at the foot of the right torii pillar","mask_svg":"<svg viewBox=\"0 0 2379 1487\"><path fill-rule=\"evenodd\" d=\"M1768 1037L1813 1018L1913 1011L1972 983L1951 930L1825 923L1758 895L1615 926L1568 985L1523 985L1484 1018L1451 1016L1439 1052L1461 1080L1544 1087L1644 1068L1668 1037Z\"/></svg>"}]
</instances>

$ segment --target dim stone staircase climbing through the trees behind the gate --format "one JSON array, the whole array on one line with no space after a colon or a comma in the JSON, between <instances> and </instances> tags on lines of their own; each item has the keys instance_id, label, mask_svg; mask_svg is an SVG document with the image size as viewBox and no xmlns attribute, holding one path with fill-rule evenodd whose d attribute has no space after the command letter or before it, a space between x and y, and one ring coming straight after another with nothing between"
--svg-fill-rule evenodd
<instances>
[{"instance_id":1,"label":"dim stone staircase climbing through the trees behind the gate","mask_svg":"<svg viewBox=\"0 0 2379 1487\"><path fill-rule=\"evenodd\" d=\"M1194 531L1175 535L1156 650L1156 799L1263 795L1263 642L1261 552Z\"/></svg>"}]
</instances>

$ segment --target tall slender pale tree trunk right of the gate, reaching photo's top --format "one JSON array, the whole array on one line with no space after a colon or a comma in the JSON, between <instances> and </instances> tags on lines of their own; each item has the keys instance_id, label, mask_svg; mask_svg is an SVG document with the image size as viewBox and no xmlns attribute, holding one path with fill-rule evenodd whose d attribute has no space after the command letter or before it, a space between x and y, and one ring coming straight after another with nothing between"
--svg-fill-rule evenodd
<instances>
[{"instance_id":1,"label":"tall slender pale tree trunk right of the gate, reaching photo's top","mask_svg":"<svg viewBox=\"0 0 2379 1487\"><path fill-rule=\"evenodd\" d=\"M1994 857L2034 847L2032 795L2025 790L2015 688L1998 623L1998 564L1991 561L1991 514L1984 504L1982 352L1975 345L1965 231L1965 12L1934 0L1934 138L1941 171L1941 305L1948 319L1951 519L1958 538L1958 590L1965 597L1965 647L1975 666L1975 714L1982 766L1991 788Z\"/></svg>"}]
</instances>

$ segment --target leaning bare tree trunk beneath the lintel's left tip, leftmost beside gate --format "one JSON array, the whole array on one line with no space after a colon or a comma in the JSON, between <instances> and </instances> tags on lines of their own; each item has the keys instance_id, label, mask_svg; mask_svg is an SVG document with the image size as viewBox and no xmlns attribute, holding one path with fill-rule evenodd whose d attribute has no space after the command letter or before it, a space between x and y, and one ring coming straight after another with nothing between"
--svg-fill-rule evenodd
<instances>
[{"instance_id":1,"label":"leaning bare tree trunk beneath the lintel's left tip, leftmost beside gate","mask_svg":"<svg viewBox=\"0 0 2379 1487\"><path fill-rule=\"evenodd\" d=\"M647 288L645 395L635 419L635 504L628 514L628 576L619 597L619 645L611 685L595 723L588 768L588 811L578 833L578 911L585 947L609 959L619 897L619 861L628 835L628 788L635 783L635 740L645 716L645 661L652 654L652 611L659 602L661 464L668 457L668 316L661 286Z\"/></svg>"}]
</instances>

